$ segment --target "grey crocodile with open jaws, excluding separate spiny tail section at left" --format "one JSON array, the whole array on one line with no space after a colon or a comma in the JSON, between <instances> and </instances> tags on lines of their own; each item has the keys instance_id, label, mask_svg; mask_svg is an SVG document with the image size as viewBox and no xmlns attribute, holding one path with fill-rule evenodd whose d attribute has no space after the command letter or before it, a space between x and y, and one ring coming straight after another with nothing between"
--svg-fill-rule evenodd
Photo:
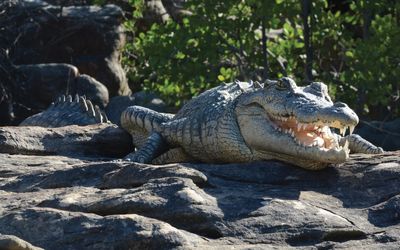
<instances>
[{"instance_id":1,"label":"grey crocodile with open jaws, excluding separate spiny tail section at left","mask_svg":"<svg viewBox=\"0 0 400 250\"><path fill-rule=\"evenodd\" d=\"M381 148L350 134L357 115L333 103L323 83L298 87L290 78L261 84L235 82L199 95L175 115L138 106L121 115L139 162L249 162L277 159L306 169L341 163L349 151L381 153ZM145 138L149 136L146 142Z\"/></svg>"}]
</instances>

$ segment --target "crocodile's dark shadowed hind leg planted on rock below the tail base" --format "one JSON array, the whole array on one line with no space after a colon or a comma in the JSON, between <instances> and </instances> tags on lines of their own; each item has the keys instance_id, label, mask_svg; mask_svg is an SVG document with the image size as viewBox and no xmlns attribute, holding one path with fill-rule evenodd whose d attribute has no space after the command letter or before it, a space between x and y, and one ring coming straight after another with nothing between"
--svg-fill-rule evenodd
<instances>
[{"instance_id":1,"label":"crocodile's dark shadowed hind leg planted on rock below the tail base","mask_svg":"<svg viewBox=\"0 0 400 250\"><path fill-rule=\"evenodd\" d=\"M157 132L152 132L143 147L125 156L125 159L140 163L151 163L153 159L167 150L168 145L161 135Z\"/></svg>"}]
</instances>

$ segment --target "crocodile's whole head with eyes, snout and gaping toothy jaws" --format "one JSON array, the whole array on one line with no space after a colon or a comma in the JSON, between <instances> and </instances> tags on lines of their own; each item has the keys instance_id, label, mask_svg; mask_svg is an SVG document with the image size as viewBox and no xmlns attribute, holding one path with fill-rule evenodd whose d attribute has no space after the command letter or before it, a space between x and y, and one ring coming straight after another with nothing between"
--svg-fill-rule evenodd
<instances>
[{"instance_id":1,"label":"crocodile's whole head with eyes, snout and gaping toothy jaws","mask_svg":"<svg viewBox=\"0 0 400 250\"><path fill-rule=\"evenodd\" d=\"M255 159L279 159L307 169L321 169L349 157L340 134L358 123L352 109L333 103L327 86L298 87L284 77L242 94L235 113L240 132Z\"/></svg>"}]
</instances>

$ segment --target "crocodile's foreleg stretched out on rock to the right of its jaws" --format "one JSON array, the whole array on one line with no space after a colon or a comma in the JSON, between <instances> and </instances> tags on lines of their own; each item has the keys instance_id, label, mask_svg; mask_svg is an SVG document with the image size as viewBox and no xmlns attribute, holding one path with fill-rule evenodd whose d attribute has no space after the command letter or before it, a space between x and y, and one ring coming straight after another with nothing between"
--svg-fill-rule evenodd
<instances>
[{"instance_id":1,"label":"crocodile's foreleg stretched out on rock to the right of its jaws","mask_svg":"<svg viewBox=\"0 0 400 250\"><path fill-rule=\"evenodd\" d=\"M340 145L349 142L349 149L351 153L362 153L362 154L381 154L383 149L377 147L369 141L365 140L357 134L347 135L340 138Z\"/></svg>"}]
</instances>

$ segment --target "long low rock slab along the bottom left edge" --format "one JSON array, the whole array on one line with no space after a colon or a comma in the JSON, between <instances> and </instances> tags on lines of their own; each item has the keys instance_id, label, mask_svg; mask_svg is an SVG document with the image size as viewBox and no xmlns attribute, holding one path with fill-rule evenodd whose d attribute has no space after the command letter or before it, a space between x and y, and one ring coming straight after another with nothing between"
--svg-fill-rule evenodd
<instances>
[{"instance_id":1,"label":"long low rock slab along the bottom left edge","mask_svg":"<svg viewBox=\"0 0 400 250\"><path fill-rule=\"evenodd\" d=\"M0 228L22 234L46 249L173 249L205 242L135 214L99 216L50 208L11 212L0 218Z\"/></svg>"}]
</instances>

